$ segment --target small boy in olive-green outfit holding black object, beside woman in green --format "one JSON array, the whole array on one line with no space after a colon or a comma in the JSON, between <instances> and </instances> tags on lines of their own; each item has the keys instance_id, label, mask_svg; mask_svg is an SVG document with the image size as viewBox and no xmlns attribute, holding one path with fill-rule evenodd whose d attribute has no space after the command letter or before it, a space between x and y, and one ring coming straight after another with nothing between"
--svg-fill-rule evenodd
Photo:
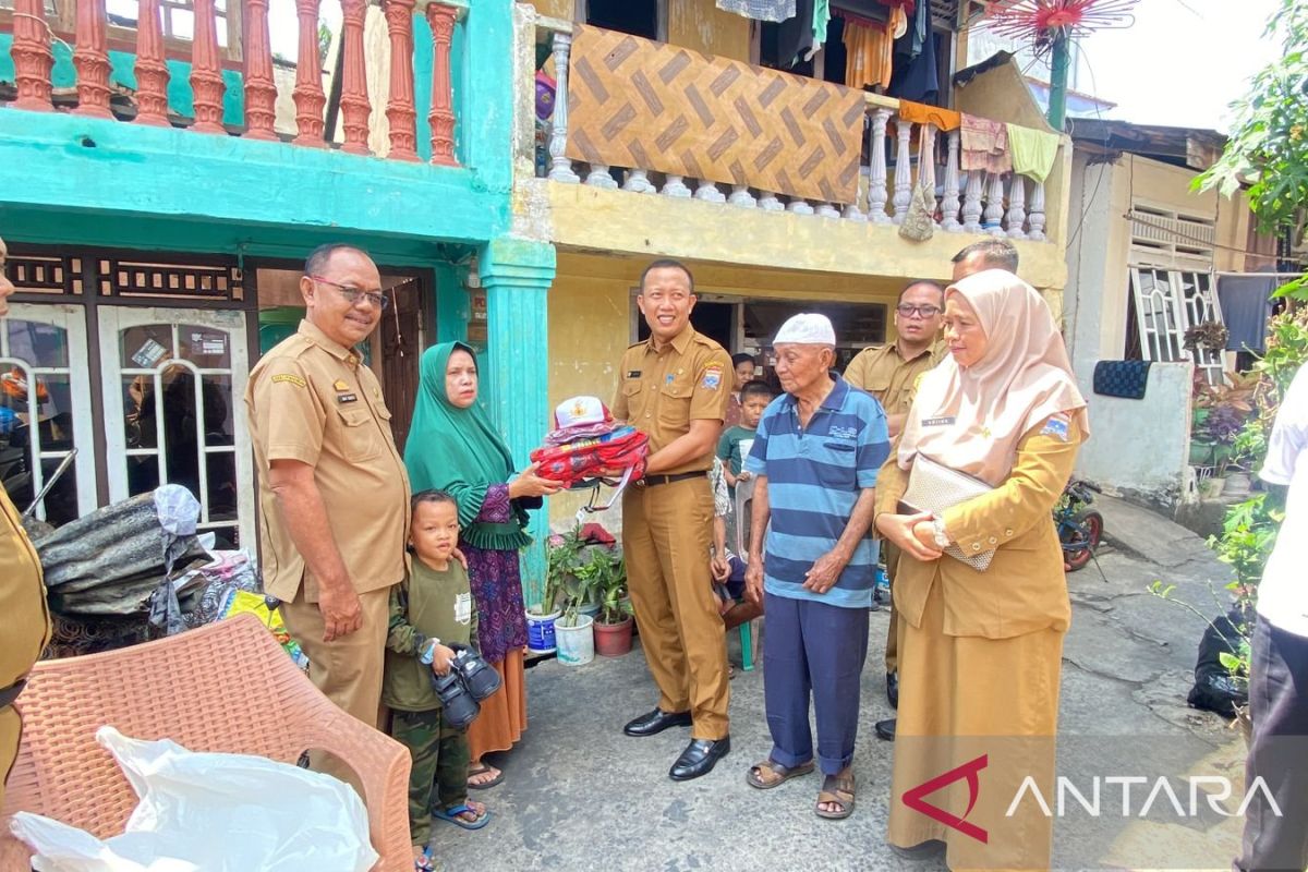
<instances>
[{"instance_id":1,"label":"small boy in olive-green outfit holding black object, beside woman in green","mask_svg":"<svg viewBox=\"0 0 1308 872\"><path fill-rule=\"evenodd\" d=\"M451 646L475 648L477 611L463 566L451 554L459 541L459 510L439 490L413 494L408 577L391 588L390 631L382 701L394 713L391 735L413 757L409 831L413 868L432 869L432 817L463 829L485 826L485 805L468 800L468 740L443 718L432 673L450 672Z\"/></svg>"}]
</instances>

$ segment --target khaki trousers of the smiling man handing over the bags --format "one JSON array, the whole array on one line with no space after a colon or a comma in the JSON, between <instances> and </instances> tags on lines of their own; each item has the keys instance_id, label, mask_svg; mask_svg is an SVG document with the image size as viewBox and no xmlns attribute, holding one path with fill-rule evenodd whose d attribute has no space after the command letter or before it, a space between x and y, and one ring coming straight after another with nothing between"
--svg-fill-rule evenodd
<instances>
[{"instance_id":1,"label":"khaki trousers of the smiling man handing over the bags","mask_svg":"<svg viewBox=\"0 0 1308 872\"><path fill-rule=\"evenodd\" d=\"M693 739L729 732L727 646L713 599L706 476L628 489L623 552L636 622L663 711L689 711Z\"/></svg>"}]
</instances>

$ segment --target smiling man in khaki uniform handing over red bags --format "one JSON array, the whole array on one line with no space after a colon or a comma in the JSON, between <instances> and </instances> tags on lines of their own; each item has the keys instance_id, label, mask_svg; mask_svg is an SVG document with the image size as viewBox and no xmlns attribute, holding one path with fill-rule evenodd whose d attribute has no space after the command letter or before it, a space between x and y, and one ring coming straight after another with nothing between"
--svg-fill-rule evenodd
<instances>
[{"instance_id":1,"label":"smiling man in khaki uniform handing over red bags","mask_svg":"<svg viewBox=\"0 0 1308 872\"><path fill-rule=\"evenodd\" d=\"M668 771L689 780L731 750L708 478L731 396L731 357L691 327L695 278L680 263L651 263L636 301L650 339L623 356L613 414L650 437L645 477L623 499L623 550L659 702L624 732L653 736L693 724L691 744Z\"/></svg>"}]
</instances>

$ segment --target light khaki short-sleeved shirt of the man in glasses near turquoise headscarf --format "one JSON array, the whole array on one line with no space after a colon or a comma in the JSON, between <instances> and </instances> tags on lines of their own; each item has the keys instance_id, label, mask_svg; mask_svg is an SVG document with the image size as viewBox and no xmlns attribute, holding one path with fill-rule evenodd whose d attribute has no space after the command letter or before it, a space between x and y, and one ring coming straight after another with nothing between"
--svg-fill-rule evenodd
<instances>
[{"instance_id":1,"label":"light khaki short-sleeved shirt of the man in glasses near turquoise headscarf","mask_svg":"<svg viewBox=\"0 0 1308 872\"><path fill-rule=\"evenodd\" d=\"M259 541L264 588L318 601L318 580L296 550L268 486L273 460L314 468L332 539L360 594L404 578L409 486L391 438L382 386L358 354L303 320L250 373L250 435L259 469Z\"/></svg>"}]
</instances>

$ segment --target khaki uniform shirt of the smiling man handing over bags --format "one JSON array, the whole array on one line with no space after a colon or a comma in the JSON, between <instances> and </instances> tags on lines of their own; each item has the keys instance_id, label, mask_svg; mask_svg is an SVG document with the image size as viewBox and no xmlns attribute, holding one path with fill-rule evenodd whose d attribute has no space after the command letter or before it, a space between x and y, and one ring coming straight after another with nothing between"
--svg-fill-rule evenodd
<instances>
[{"instance_id":1,"label":"khaki uniform shirt of the smiling man handing over bags","mask_svg":"<svg viewBox=\"0 0 1308 872\"><path fill-rule=\"evenodd\" d=\"M653 337L628 348L619 375L613 417L649 434L650 454L689 433L691 421L722 421L731 399L731 356L689 326L662 352ZM717 439L704 456L663 475L706 471L715 448Z\"/></svg>"}]
</instances>

